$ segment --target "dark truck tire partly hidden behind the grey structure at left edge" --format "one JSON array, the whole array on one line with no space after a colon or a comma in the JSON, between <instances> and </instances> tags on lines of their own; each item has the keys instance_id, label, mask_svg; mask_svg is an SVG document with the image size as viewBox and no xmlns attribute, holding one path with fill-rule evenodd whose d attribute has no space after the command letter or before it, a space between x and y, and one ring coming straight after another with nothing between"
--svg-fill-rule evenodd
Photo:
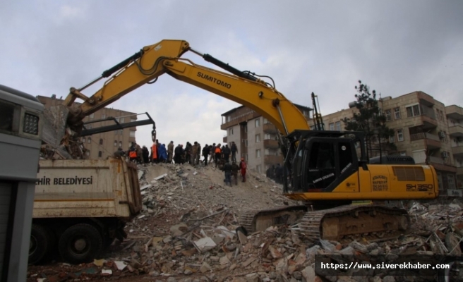
<instances>
[{"instance_id":1,"label":"dark truck tire partly hidden behind the grey structure at left edge","mask_svg":"<svg viewBox=\"0 0 463 282\"><path fill-rule=\"evenodd\" d=\"M29 264L37 264L47 256L52 239L47 228L32 224L30 229Z\"/></svg>"}]
</instances>

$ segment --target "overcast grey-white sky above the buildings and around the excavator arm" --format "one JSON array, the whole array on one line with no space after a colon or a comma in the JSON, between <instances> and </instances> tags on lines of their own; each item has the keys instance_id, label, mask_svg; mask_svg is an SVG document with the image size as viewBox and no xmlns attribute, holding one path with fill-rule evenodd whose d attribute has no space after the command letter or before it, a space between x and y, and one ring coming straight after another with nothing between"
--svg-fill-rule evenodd
<instances>
[{"instance_id":1,"label":"overcast grey-white sky above the buildings and around the excavator arm","mask_svg":"<svg viewBox=\"0 0 463 282\"><path fill-rule=\"evenodd\" d=\"M421 90L463 106L463 1L0 1L0 84L66 97L146 45L184 39L322 114L358 80L397 97ZM211 65L199 56L186 58ZM97 85L101 87L101 85ZM97 88L84 93L91 96ZM114 102L148 112L160 142L222 142L235 102L164 75ZM150 146L150 125L137 141Z\"/></svg>"}]
</instances>

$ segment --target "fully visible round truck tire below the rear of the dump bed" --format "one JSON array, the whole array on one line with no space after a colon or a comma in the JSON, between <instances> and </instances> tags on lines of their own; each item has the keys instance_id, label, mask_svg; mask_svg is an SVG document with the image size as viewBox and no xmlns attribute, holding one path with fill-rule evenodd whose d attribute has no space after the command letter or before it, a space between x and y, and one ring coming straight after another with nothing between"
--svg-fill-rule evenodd
<instances>
[{"instance_id":1,"label":"fully visible round truck tire below the rear of the dump bed","mask_svg":"<svg viewBox=\"0 0 463 282\"><path fill-rule=\"evenodd\" d=\"M70 264L93 262L103 249L103 238L94 226L79 223L61 234L58 249L59 255Z\"/></svg>"}]
</instances>

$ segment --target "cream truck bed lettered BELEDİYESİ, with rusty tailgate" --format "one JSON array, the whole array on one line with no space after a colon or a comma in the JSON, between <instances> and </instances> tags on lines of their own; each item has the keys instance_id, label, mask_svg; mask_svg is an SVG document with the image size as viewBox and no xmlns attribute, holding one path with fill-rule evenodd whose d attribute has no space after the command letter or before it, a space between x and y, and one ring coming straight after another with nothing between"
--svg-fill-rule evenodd
<instances>
[{"instance_id":1,"label":"cream truck bed lettered BELED\u0130YES\u0130, with rusty tailgate","mask_svg":"<svg viewBox=\"0 0 463 282\"><path fill-rule=\"evenodd\" d=\"M33 217L117 217L142 209L135 164L123 159L41 159Z\"/></svg>"}]
</instances>

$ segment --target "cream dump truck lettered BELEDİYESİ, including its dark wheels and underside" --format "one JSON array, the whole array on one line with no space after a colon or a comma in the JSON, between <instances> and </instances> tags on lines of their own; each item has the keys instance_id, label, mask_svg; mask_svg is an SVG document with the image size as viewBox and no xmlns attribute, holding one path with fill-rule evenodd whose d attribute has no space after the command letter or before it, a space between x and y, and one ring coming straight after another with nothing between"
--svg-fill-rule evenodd
<instances>
[{"instance_id":1,"label":"cream dump truck lettered BELED\u0130YES\u0130, including its dark wheels and underside","mask_svg":"<svg viewBox=\"0 0 463 282\"><path fill-rule=\"evenodd\" d=\"M40 159L30 235L29 263L56 255L92 262L142 209L136 164L124 157Z\"/></svg>"}]
</instances>

